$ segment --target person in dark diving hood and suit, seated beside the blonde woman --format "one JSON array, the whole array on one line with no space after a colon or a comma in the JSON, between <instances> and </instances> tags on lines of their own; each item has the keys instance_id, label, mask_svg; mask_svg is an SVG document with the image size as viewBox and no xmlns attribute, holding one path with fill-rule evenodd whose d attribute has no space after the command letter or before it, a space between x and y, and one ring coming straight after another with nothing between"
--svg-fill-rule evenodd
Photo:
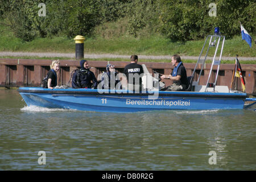
<instances>
[{"instance_id":1,"label":"person in dark diving hood and suit, seated beside the blonde woman","mask_svg":"<svg viewBox=\"0 0 256 182\"><path fill-rule=\"evenodd\" d=\"M94 88L97 89L97 79L93 72L90 71L88 61L80 61L81 69L77 69L72 77L72 88ZM93 82L93 84L92 84Z\"/></svg>"}]
</instances>

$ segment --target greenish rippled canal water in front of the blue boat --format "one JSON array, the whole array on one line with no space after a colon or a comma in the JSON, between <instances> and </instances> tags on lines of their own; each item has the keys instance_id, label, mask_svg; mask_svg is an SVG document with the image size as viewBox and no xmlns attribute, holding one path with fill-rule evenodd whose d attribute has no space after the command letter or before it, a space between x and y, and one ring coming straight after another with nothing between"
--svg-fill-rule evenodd
<instances>
[{"instance_id":1,"label":"greenish rippled canal water in front of the blue boat","mask_svg":"<svg viewBox=\"0 0 256 182\"><path fill-rule=\"evenodd\" d=\"M255 116L46 109L26 106L16 90L0 90L0 170L255 170ZM39 165L39 151L46 164ZM211 151L216 164L209 164Z\"/></svg>"}]
</instances>

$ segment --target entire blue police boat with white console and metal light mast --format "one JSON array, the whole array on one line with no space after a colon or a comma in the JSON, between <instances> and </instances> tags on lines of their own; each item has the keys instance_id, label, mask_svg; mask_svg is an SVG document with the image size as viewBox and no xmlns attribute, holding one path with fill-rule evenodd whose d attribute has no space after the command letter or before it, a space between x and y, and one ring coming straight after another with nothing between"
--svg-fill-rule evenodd
<instances>
[{"instance_id":1,"label":"entire blue police boat with white console and metal light mast","mask_svg":"<svg viewBox=\"0 0 256 182\"><path fill-rule=\"evenodd\" d=\"M28 106L35 105L97 112L127 113L170 109L243 109L245 101L255 102L255 99L247 98L246 93L234 92L228 86L216 85L224 42L225 36L220 35L218 31L215 31L214 35L207 36L192 76L188 77L189 87L184 92L159 91L159 88L163 87L163 83L152 77L145 65L142 65L144 71L142 83L145 87L143 90L147 90L144 92L72 88L51 90L30 87L21 87L18 91ZM202 56L206 44L208 44L207 53ZM206 85L199 85L209 48L215 48L212 66ZM218 57L217 52L220 53ZM197 67L201 70L197 80L195 80L193 78L195 78ZM215 81L210 83L213 67L217 67L217 73ZM155 88L154 85L158 85L158 87Z\"/></svg>"}]
</instances>

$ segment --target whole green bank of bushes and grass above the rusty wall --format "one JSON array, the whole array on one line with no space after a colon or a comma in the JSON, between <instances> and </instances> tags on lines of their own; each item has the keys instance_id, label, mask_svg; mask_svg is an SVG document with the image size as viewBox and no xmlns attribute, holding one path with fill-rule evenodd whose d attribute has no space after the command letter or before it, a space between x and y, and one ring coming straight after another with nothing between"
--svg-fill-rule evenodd
<instances>
[{"instance_id":1,"label":"whole green bank of bushes and grass above the rusty wall","mask_svg":"<svg viewBox=\"0 0 256 182\"><path fill-rule=\"evenodd\" d=\"M234 59L236 55L256 57L254 1L232 3L217 1L216 18L208 15L210 0L183 3L171 0L145 0L143 3L139 0L101 0L96 1L97 3L83 0L62 3L46 1L47 13L44 17L38 16L39 1L28 0L22 4L14 0L17 5L15 3L10 5L9 1L2 1L0 7L0 52L75 54L74 38L76 35L82 35L85 37L85 55L179 54L181 59L183 56L199 57L207 35L214 33L214 26L220 26L222 35L226 36L222 57L234 57ZM179 14L172 11L173 7L179 10ZM229 11L230 9L232 11ZM238 21L243 23L253 38L251 48L245 40L242 40ZM214 48L209 49L208 56L212 57L214 50ZM75 59L65 56L13 55L0 56L0 58ZM88 60L129 61L129 59L109 57ZM197 61L183 60L187 63ZM168 59L139 59L139 61L170 62ZM233 64L234 61L223 60L222 63ZM242 63L255 64L256 61L246 60Z\"/></svg>"}]
</instances>

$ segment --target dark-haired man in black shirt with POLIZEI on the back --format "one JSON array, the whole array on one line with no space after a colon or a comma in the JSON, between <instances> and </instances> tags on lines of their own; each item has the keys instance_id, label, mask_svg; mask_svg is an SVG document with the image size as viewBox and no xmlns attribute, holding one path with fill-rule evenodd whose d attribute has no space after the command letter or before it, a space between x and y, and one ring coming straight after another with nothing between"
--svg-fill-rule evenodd
<instances>
[{"instance_id":1,"label":"dark-haired man in black shirt with POLIZEI on the back","mask_svg":"<svg viewBox=\"0 0 256 182\"><path fill-rule=\"evenodd\" d=\"M139 90L142 90L141 74L144 72L143 72L142 65L137 63L138 63L138 56L131 55L131 63L126 65L125 69L123 70L123 73L125 73L127 78L127 89L129 90L138 90L138 88ZM129 75L133 76L133 80L129 80Z\"/></svg>"}]
</instances>

